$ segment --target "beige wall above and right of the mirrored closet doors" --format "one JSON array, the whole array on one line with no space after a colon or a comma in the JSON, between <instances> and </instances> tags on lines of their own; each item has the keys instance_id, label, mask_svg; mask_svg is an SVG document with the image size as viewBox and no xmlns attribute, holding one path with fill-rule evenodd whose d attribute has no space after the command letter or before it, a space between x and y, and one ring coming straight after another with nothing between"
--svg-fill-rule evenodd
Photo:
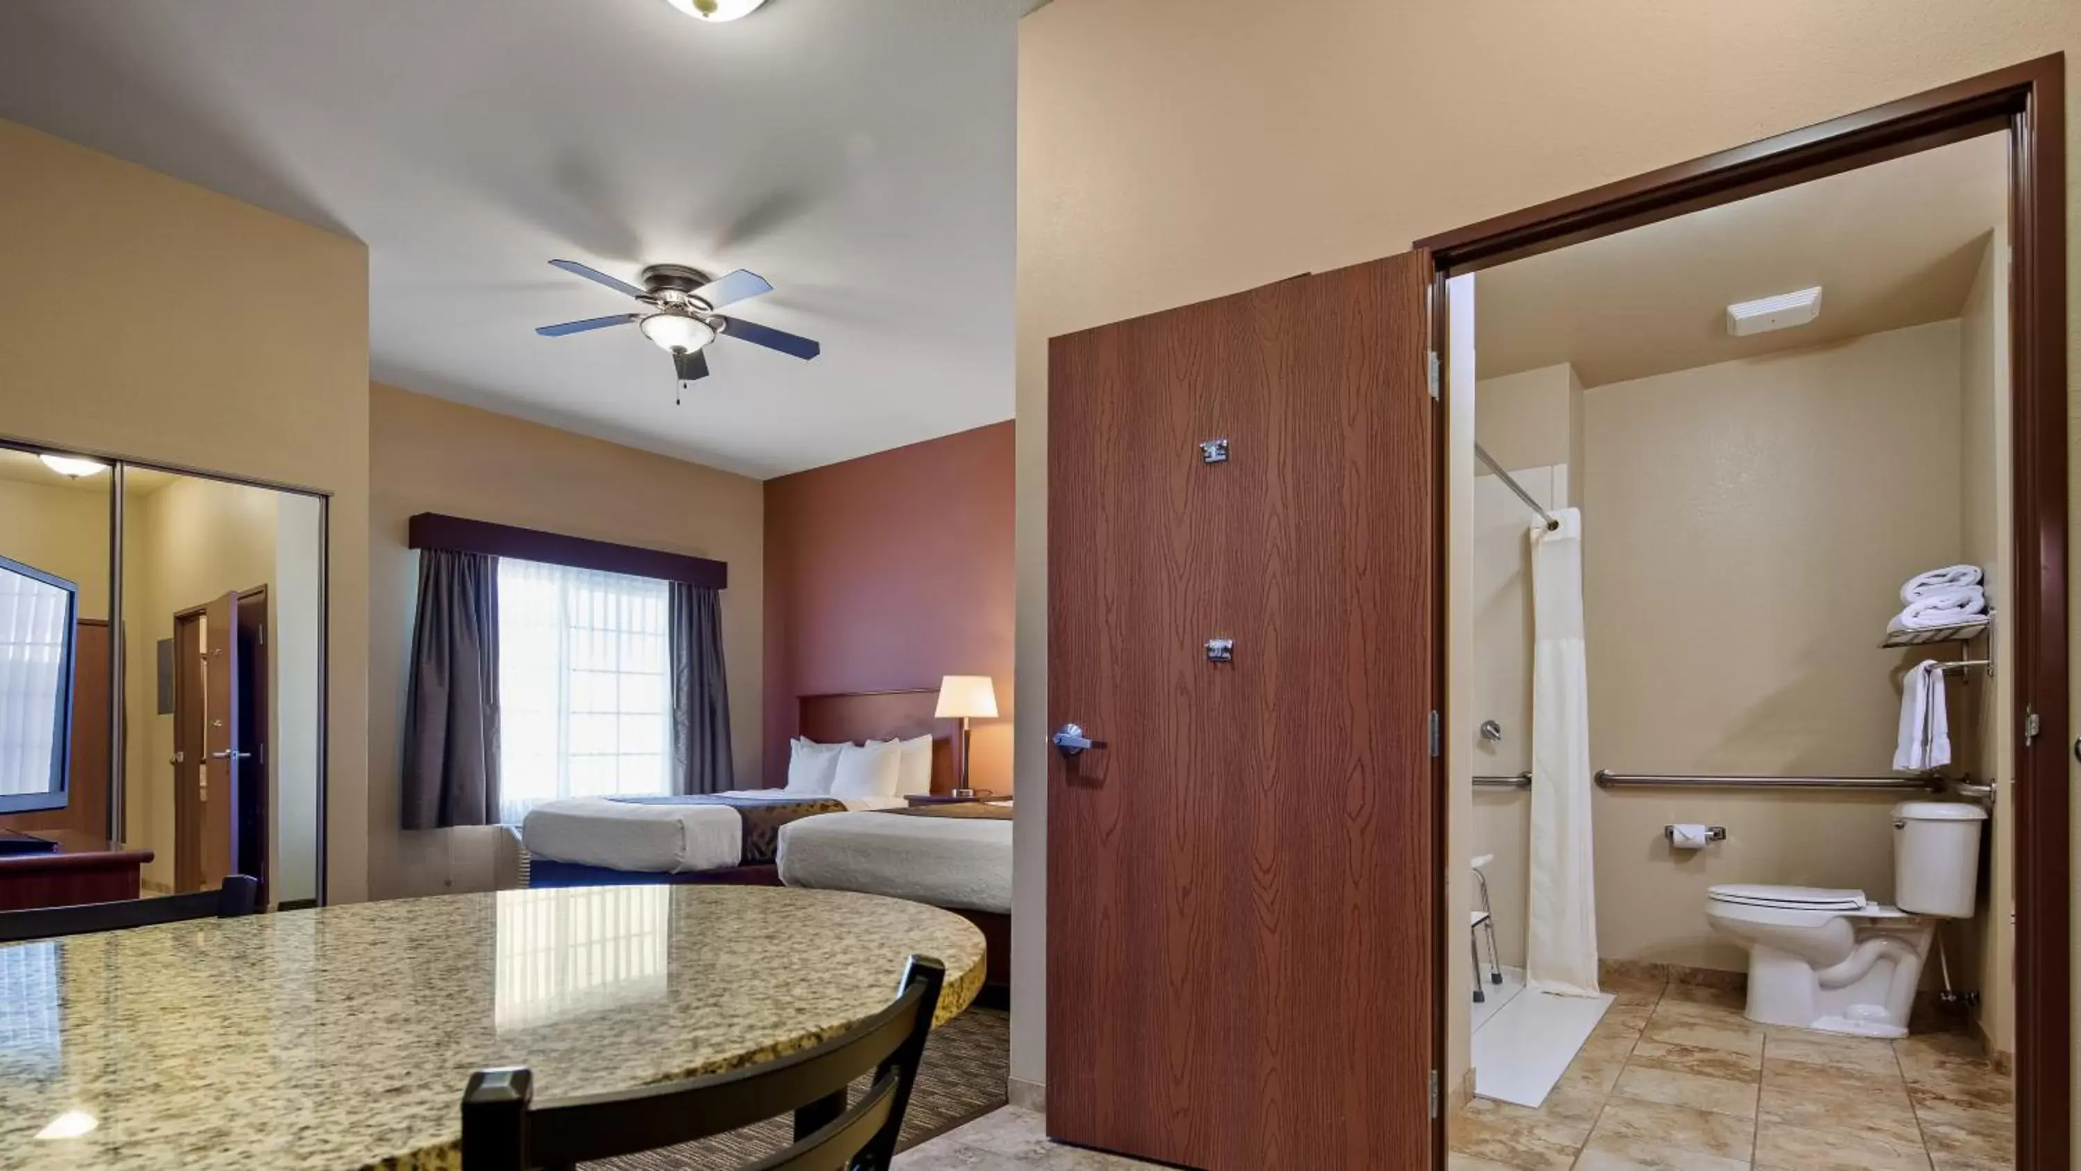
<instances>
[{"instance_id":1,"label":"beige wall above and right of the mirrored closet doors","mask_svg":"<svg viewBox=\"0 0 2081 1171\"><path fill-rule=\"evenodd\" d=\"M331 493L329 896L362 899L366 248L0 123L0 433Z\"/></svg>"}]
</instances>

